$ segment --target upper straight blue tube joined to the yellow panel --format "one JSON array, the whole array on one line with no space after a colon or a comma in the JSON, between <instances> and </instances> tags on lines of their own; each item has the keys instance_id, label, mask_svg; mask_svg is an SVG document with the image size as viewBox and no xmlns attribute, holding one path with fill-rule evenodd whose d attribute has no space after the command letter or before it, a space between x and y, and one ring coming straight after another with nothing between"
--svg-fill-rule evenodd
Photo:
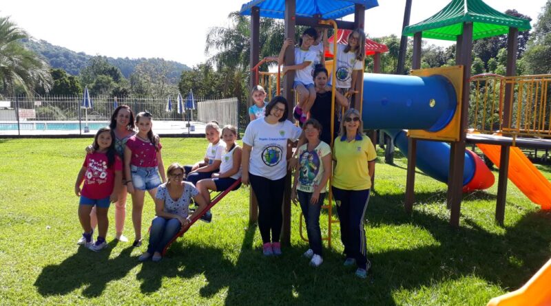
<instances>
[{"instance_id":1,"label":"upper straight blue tube joined to the yellow panel","mask_svg":"<svg viewBox=\"0 0 551 306\"><path fill-rule=\"evenodd\" d=\"M364 129L439 131L456 107L455 88L444 76L364 74Z\"/></svg>"}]
</instances>

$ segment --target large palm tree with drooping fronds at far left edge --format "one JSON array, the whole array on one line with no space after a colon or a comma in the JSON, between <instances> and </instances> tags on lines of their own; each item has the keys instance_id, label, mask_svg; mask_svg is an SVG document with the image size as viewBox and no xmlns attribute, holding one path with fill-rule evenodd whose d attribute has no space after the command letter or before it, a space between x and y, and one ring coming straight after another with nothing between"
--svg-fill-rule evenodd
<instances>
[{"instance_id":1,"label":"large palm tree with drooping fronds at far left edge","mask_svg":"<svg viewBox=\"0 0 551 306\"><path fill-rule=\"evenodd\" d=\"M10 17L0 17L0 91L3 95L14 96L16 86L27 94L35 87L49 91L52 86L48 63L21 45L20 40L27 38L28 34L12 23Z\"/></svg>"}]
</instances>

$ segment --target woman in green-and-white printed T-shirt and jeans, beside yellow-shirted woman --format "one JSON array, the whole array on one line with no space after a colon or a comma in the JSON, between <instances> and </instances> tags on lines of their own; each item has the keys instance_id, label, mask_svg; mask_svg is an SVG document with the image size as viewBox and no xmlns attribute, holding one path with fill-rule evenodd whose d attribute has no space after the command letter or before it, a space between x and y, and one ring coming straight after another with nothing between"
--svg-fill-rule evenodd
<instances>
[{"instance_id":1,"label":"woman in green-and-white printed T-shirt and jeans, beside yellow-shirted woman","mask_svg":"<svg viewBox=\"0 0 551 306\"><path fill-rule=\"evenodd\" d=\"M320 140L322 124L313 118L304 123L306 144L298 148L298 169L291 190L293 203L300 202L306 221L310 248L304 253L311 259L310 265L318 267L322 259L322 231L320 210L331 177L331 146Z\"/></svg>"}]
</instances>

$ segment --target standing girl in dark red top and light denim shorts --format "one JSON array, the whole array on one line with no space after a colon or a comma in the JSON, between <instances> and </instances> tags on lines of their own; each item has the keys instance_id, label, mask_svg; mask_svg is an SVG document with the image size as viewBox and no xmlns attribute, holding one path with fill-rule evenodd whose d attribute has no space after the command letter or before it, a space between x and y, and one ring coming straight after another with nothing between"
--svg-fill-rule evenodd
<instances>
[{"instance_id":1,"label":"standing girl in dark red top and light denim shorts","mask_svg":"<svg viewBox=\"0 0 551 306\"><path fill-rule=\"evenodd\" d=\"M152 131L152 114L138 113L136 126L138 133L129 138L125 147L125 175L128 193L132 195L132 223L134 223L134 247L141 245L142 210L145 190L155 199L157 187L166 182L165 166L160 155L160 141ZM160 177L159 177L160 174ZM162 181L161 181L162 177Z\"/></svg>"}]
</instances>

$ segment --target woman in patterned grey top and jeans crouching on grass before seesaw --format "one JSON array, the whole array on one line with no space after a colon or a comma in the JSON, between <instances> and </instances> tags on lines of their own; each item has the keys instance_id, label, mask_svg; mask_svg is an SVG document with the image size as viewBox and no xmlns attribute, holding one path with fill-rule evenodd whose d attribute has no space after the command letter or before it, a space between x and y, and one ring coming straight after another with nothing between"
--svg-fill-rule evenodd
<instances>
[{"instance_id":1,"label":"woman in patterned grey top and jeans crouching on grass before seesaw","mask_svg":"<svg viewBox=\"0 0 551 306\"><path fill-rule=\"evenodd\" d=\"M149 258L160 261L165 245L207 206L197 188L189 182L183 182L184 173L183 166L171 164L167 170L168 182L158 186L155 195L157 217L153 219L149 230L147 251L141 254L139 261L147 261ZM192 197L199 207L189 216Z\"/></svg>"}]
</instances>

